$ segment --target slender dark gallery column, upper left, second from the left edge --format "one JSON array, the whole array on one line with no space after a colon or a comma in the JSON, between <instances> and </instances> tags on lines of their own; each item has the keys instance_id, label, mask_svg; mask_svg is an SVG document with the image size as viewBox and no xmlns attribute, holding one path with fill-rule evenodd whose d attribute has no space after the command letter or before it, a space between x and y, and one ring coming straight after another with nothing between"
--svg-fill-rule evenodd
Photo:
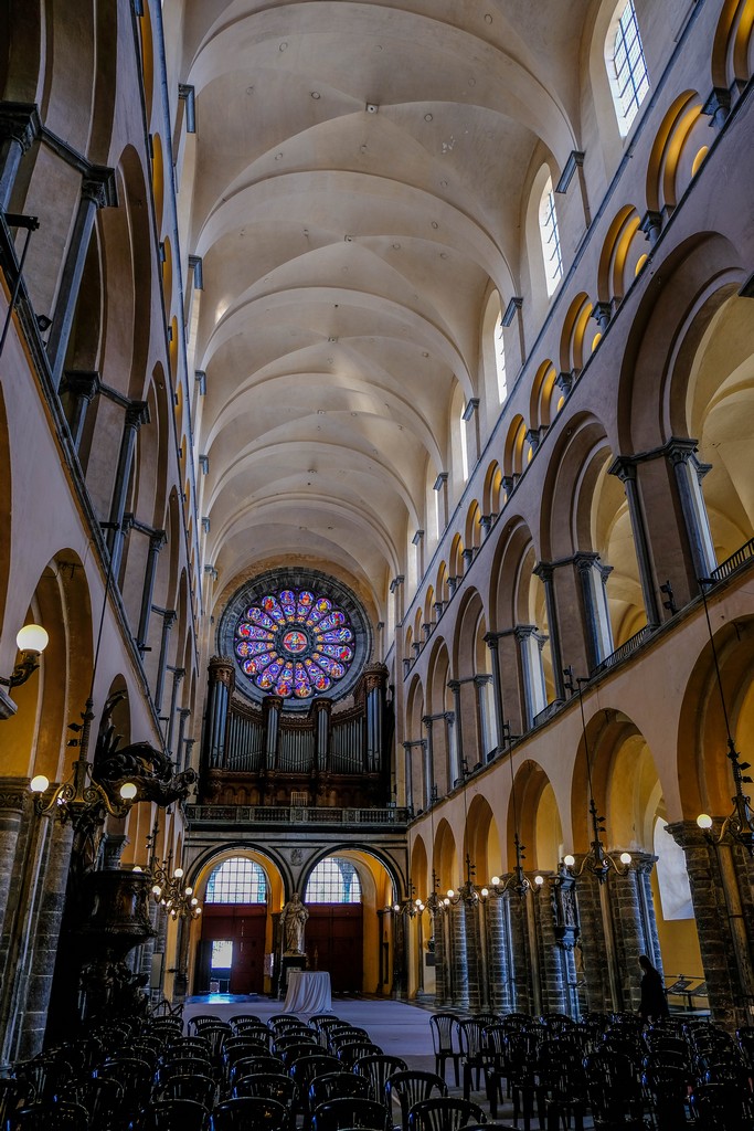
<instances>
[{"instance_id":1,"label":"slender dark gallery column, upper left, second from the left edge","mask_svg":"<svg viewBox=\"0 0 754 1131\"><path fill-rule=\"evenodd\" d=\"M63 274L58 290L55 309L52 314L52 326L47 338L47 357L52 369L52 380L57 386L63 372L66 351L73 326L76 302L84 275L84 265L94 228L97 208L116 204L115 173L112 169L97 165L89 170L81 182L81 199L79 201L68 253L63 265Z\"/></svg>"}]
</instances>

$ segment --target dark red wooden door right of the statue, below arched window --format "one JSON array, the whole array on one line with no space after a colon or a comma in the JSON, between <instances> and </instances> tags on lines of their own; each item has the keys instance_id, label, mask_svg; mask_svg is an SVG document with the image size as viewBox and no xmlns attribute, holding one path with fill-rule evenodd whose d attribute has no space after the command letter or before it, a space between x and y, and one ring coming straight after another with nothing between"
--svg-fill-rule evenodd
<instances>
[{"instance_id":1,"label":"dark red wooden door right of the statue, below arched window","mask_svg":"<svg viewBox=\"0 0 754 1131\"><path fill-rule=\"evenodd\" d=\"M307 904L305 947L311 969L327 970L333 993L361 993L364 916L361 904Z\"/></svg>"}]
</instances>

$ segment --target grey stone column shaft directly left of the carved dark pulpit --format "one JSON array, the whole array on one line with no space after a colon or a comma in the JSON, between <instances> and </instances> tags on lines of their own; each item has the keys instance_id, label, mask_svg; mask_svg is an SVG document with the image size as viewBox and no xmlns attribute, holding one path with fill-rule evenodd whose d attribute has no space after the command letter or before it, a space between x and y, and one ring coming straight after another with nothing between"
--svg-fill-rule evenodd
<instances>
[{"instance_id":1,"label":"grey stone column shaft directly left of the carved dark pulpit","mask_svg":"<svg viewBox=\"0 0 754 1131\"><path fill-rule=\"evenodd\" d=\"M34 930L34 952L26 987L18 1059L29 1060L42 1051L52 993L58 942L66 906L66 890L73 844L70 821L53 820L50 852Z\"/></svg>"}]
</instances>

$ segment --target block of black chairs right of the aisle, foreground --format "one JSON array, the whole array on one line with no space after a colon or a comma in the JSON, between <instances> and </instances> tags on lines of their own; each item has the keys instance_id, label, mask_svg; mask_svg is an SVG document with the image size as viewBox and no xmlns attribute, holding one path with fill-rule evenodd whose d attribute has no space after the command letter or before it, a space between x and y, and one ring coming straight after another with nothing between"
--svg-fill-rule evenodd
<instances>
[{"instance_id":1,"label":"block of black chairs right of the aisle, foreground","mask_svg":"<svg viewBox=\"0 0 754 1131\"><path fill-rule=\"evenodd\" d=\"M699 1131L754 1128L754 1030L734 1039L709 1021L644 1028L633 1015L592 1015L579 1024L557 1015L431 1019L435 1068L448 1060L463 1094L484 1077L493 1119L503 1096L526 1131L582 1126L587 1113L600 1128L660 1131L693 1124Z\"/></svg>"}]
</instances>

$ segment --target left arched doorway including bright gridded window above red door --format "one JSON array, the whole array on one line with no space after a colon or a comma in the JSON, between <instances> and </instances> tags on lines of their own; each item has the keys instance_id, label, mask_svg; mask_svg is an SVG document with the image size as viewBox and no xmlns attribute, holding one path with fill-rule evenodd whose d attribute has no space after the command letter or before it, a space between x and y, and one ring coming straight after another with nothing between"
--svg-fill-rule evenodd
<instances>
[{"instance_id":1,"label":"left arched doorway including bright gridded window above red door","mask_svg":"<svg viewBox=\"0 0 754 1131\"><path fill-rule=\"evenodd\" d=\"M261 993L269 883L248 856L213 869L203 899L194 993Z\"/></svg>"}]
</instances>

